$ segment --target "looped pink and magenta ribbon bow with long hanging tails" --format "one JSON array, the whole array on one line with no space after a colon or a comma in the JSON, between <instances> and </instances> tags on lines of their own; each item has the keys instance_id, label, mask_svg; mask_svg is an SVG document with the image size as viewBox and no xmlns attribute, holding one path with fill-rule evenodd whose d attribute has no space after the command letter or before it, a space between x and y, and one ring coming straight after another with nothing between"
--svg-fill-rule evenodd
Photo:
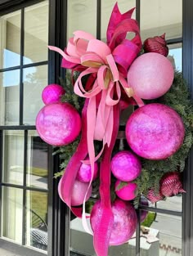
<instances>
[{"instance_id":1,"label":"looped pink and magenta ribbon bow with long hanging tails","mask_svg":"<svg viewBox=\"0 0 193 256\"><path fill-rule=\"evenodd\" d=\"M94 231L94 246L99 256L108 254L110 232L113 227L113 214L110 206L110 152L113 150L119 129L119 101L122 97L122 89L128 97L134 98L138 106L143 106L143 102L129 87L126 79L129 66L141 51L137 21L131 19L133 11L134 8L121 14L117 3L115 4L106 33L107 43L97 40L92 34L79 30L74 32L74 38L70 38L64 52L57 47L49 47L63 57L62 67L71 69L72 72L82 71L74 83L74 93L87 99L82 114L82 138L77 151L65 169L58 189L61 199L70 208L72 187L81 162L87 155L89 156L93 177L94 162L104 153L100 170L101 208L99 215L102 217L99 216L97 230ZM132 40L126 38L128 32L135 34ZM84 87L82 79L85 76L89 78ZM97 156L94 150L94 140L103 141L102 150ZM92 180L90 186L91 183ZM84 203L85 200L86 195ZM80 209L73 209L73 211L81 217ZM84 207L83 225L88 231Z\"/></svg>"}]
</instances>

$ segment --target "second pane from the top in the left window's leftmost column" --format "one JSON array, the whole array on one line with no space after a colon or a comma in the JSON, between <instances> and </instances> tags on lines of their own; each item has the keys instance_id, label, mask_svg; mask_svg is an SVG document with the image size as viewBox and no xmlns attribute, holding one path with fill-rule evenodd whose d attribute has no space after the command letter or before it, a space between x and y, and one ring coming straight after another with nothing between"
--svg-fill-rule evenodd
<instances>
[{"instance_id":1,"label":"second pane from the top in the left window's leftmost column","mask_svg":"<svg viewBox=\"0 0 193 256\"><path fill-rule=\"evenodd\" d=\"M0 73L0 97L0 124L19 124L20 70Z\"/></svg>"}]
</instances>

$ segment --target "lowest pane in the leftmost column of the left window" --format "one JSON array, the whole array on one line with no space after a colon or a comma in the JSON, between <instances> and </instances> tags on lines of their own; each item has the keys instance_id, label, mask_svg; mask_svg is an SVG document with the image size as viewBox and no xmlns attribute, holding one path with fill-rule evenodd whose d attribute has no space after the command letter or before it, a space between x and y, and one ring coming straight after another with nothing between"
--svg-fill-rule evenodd
<instances>
[{"instance_id":1,"label":"lowest pane in the leftmost column of the left window","mask_svg":"<svg viewBox=\"0 0 193 256\"><path fill-rule=\"evenodd\" d=\"M23 219L23 191L2 188L2 236L21 244Z\"/></svg>"}]
</instances>

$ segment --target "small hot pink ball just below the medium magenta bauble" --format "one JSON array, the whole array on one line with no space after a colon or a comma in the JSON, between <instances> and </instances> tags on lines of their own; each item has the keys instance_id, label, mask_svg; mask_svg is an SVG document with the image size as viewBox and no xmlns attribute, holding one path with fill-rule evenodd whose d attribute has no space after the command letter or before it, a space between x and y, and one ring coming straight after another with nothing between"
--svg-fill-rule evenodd
<instances>
[{"instance_id":1,"label":"small hot pink ball just below the medium magenta bauble","mask_svg":"<svg viewBox=\"0 0 193 256\"><path fill-rule=\"evenodd\" d=\"M118 190L120 181L115 182L114 191L117 196L122 200L133 200L136 198L137 184L128 182L128 185L123 186Z\"/></svg>"}]
</instances>

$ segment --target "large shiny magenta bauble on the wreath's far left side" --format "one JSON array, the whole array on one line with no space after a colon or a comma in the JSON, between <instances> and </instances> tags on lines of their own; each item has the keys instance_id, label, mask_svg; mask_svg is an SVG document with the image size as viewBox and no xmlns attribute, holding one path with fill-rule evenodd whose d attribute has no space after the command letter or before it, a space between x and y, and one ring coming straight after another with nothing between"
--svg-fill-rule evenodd
<instances>
[{"instance_id":1,"label":"large shiny magenta bauble on the wreath's far left side","mask_svg":"<svg viewBox=\"0 0 193 256\"><path fill-rule=\"evenodd\" d=\"M43 141L53 146L64 146L79 136L81 119L74 106L55 103L39 111L36 128Z\"/></svg>"}]
</instances>

